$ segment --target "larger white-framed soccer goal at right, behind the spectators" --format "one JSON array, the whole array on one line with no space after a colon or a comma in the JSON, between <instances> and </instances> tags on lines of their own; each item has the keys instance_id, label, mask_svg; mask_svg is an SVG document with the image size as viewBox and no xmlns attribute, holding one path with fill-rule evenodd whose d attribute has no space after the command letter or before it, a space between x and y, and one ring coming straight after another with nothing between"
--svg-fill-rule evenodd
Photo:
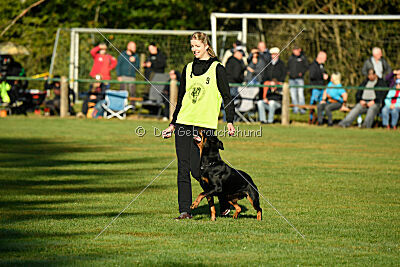
<instances>
[{"instance_id":1,"label":"larger white-framed soccer goal at right, behind the spectators","mask_svg":"<svg viewBox=\"0 0 400 267\"><path fill-rule=\"evenodd\" d=\"M361 69L373 47L382 48L389 64L399 67L400 15L212 13L210 20L212 36L216 36L222 25L229 24L229 30L242 32L242 42L247 50L255 48L259 41L265 41L268 48L282 49L304 29L283 51L281 59L287 62L294 44L302 47L310 61L318 51L324 50L328 54L326 69L345 74L343 83L347 85L358 85L363 78ZM216 51L220 51L218 45L213 38Z\"/></svg>"}]
</instances>

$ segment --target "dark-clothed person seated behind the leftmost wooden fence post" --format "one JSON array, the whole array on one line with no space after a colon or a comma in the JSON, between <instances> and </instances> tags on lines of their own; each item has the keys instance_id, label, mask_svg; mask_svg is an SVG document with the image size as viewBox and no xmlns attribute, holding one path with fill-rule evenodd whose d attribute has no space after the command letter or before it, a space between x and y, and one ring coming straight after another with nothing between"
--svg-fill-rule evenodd
<instances>
[{"instance_id":1,"label":"dark-clothed person seated behind the leftmost wooden fence post","mask_svg":"<svg viewBox=\"0 0 400 267\"><path fill-rule=\"evenodd\" d=\"M54 78L59 79L60 76L56 75ZM48 77L45 77L46 82L44 83L45 90L53 90L54 98L47 100L45 106L50 109L50 114L60 114L60 104L61 104L61 85L59 81L53 81L49 83ZM71 99L72 98L72 99ZM75 115L75 110L73 105L75 104L75 92L68 87L68 112L71 115Z\"/></svg>"}]
</instances>

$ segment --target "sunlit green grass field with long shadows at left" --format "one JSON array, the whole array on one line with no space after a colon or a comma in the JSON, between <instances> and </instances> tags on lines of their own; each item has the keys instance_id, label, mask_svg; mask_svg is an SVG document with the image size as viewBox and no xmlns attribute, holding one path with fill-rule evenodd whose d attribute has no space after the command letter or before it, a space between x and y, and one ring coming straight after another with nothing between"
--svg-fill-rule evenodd
<instances>
[{"instance_id":1,"label":"sunlit green grass field with long shadows at left","mask_svg":"<svg viewBox=\"0 0 400 267\"><path fill-rule=\"evenodd\" d=\"M173 138L153 134L166 126L1 119L0 265L399 265L400 134L381 129L267 125L222 138L222 157L305 240L264 200L261 222L247 200L237 220L209 221L203 200L174 221L176 161L95 240L175 158Z\"/></svg>"}]
</instances>

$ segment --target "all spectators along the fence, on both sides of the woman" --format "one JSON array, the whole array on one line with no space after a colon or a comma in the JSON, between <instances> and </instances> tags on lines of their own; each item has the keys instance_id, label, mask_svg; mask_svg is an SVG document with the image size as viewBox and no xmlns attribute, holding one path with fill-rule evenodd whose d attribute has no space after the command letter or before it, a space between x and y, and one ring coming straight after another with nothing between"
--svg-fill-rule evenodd
<instances>
[{"instance_id":1,"label":"all spectators along the fence, on both sides of the woman","mask_svg":"<svg viewBox=\"0 0 400 267\"><path fill-rule=\"evenodd\" d=\"M376 117L379 116L383 127L397 128L400 113L400 70L392 70L388 61L382 56L380 48L372 49L372 55L367 57L360 70L365 79L359 86L365 89L357 90L356 104L351 109L347 102L348 93L341 83L342 74L338 72L329 74L325 69L325 62L328 58L325 51L319 51L311 62L298 45L293 46L292 54L287 62L280 58L280 53L278 47L268 49L265 42L259 42L257 47L247 53L245 46L240 41L236 41L232 48L225 52L221 60L225 66L229 83L261 85L261 90L254 99L254 109L258 112L261 123L274 122L275 113L282 107L282 87L276 85L282 85L288 79L292 113L305 114L308 109L310 123L323 125L326 116L327 125L332 126L334 124L332 112L341 110L347 113L345 118L338 123L341 127L349 127L357 119L360 126L371 128L377 121ZM131 82L136 80L140 67L144 68L144 76L147 80L151 80L157 73L165 73L166 69L166 56L155 43L149 44L145 62L140 62L136 43L133 41L127 44L126 49L117 59L107 53L105 43L92 48L90 54L93 58L90 76L103 82L90 85L78 116L96 117L101 114L101 103L104 102L105 90L109 88L109 84L104 80L111 79L111 71L116 71L118 81ZM23 68L14 62L12 57L2 56L2 61L4 61L2 62L3 68L8 66L8 73L3 73L2 77L21 75ZM312 89L308 104L306 104L303 88L307 72L309 72L307 84L316 87ZM171 70L169 77L170 80L179 80L180 73ZM9 90L7 84L10 87L24 86L24 83L20 81L10 82L2 82L2 95L7 95L6 92ZM326 89L321 87L326 87ZM380 87L389 87L390 90L382 90L379 89ZM48 83L46 81L44 89L53 92L53 98L45 101L47 112L59 114L60 82ZM121 83L120 90L128 91L132 98L136 97L136 86L133 83ZM169 98L169 86L165 86L160 93L163 95L164 101L162 115L169 117L169 103L166 100ZM240 98L237 86L232 86L230 93L232 97ZM74 103L75 94L73 90L69 89L70 114L75 114ZM361 122L362 114L366 114L366 116Z\"/></svg>"}]
</instances>

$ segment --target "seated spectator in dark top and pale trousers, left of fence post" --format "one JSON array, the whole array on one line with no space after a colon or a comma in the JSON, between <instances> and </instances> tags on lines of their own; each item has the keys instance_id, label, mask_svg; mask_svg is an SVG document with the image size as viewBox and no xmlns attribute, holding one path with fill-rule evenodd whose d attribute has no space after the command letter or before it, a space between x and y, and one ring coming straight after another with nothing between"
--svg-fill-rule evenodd
<instances>
[{"instance_id":1,"label":"seated spectator in dark top and pale trousers, left of fence post","mask_svg":"<svg viewBox=\"0 0 400 267\"><path fill-rule=\"evenodd\" d=\"M276 79L269 82L270 87L264 87L262 100L257 101L258 114L261 123L273 123L275 111L282 107L282 88L273 85L281 84ZM272 85L272 86L271 86ZM265 110L268 110L268 121Z\"/></svg>"}]
</instances>

